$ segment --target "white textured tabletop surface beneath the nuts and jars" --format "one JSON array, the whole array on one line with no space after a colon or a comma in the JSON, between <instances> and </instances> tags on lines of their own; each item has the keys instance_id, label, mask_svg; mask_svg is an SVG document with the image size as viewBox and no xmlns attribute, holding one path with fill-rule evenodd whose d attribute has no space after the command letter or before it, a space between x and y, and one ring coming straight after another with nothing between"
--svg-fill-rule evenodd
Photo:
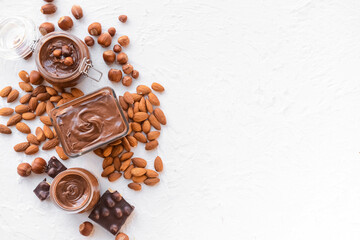
<instances>
[{"instance_id":1,"label":"white textured tabletop surface beneath the nuts and jars","mask_svg":"<svg viewBox=\"0 0 360 240\"><path fill-rule=\"evenodd\" d=\"M160 147L135 150L150 165L163 158L161 184L133 192L127 180L100 180L102 191L117 189L136 206L123 228L131 239L360 238L358 0L55 3L57 13L46 17L40 0L0 0L0 15L56 22L78 3L85 17L71 33L85 37L93 21L115 26L116 36L129 35L125 51L141 75L129 89L106 77L85 80L85 92L110 85L123 93L153 81L166 87ZM96 45L91 54L107 73L102 51ZM2 85L17 86L17 72L34 67L0 60ZM87 215L40 202L32 190L44 176L17 176L18 163L33 159L12 150L24 139L16 130L0 138L0 238L85 239L78 225ZM101 173L93 154L65 164ZM96 226L91 239L113 237Z\"/></svg>"}]
</instances>

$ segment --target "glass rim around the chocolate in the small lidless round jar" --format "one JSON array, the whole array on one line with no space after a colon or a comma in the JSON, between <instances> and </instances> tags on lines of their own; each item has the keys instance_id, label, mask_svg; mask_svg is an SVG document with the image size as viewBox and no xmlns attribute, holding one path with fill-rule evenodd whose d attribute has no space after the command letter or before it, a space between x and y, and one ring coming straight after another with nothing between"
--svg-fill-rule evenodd
<instances>
[{"instance_id":1,"label":"glass rim around the chocolate in the small lidless round jar","mask_svg":"<svg viewBox=\"0 0 360 240\"><path fill-rule=\"evenodd\" d=\"M59 173L53 180L53 182L51 183L50 185L50 197L51 199L54 201L55 205L57 207L59 207L61 210L64 210L68 213L80 213L82 211L84 211L91 203L93 197L94 197L94 187L93 185L91 184L91 179L89 178L89 176L87 174L85 174L83 171L85 171L87 174L91 174L93 175L90 171L84 169L84 168L68 168L67 170ZM57 197L56 197L56 186L57 184L60 182L60 180L64 177L66 177L67 175L71 175L71 174L76 174L76 175L79 175L81 176L82 178L85 179L85 181L88 183L89 187L90 187L90 196L87 198L86 202L84 205L82 205L81 207L79 208L76 208L76 209L66 209L64 207L62 207L58 200L57 200ZM93 175L94 176L94 175ZM94 176L94 178L96 179L96 177ZM96 179L96 181L98 181ZM97 182L98 183L98 182ZM98 183L99 184L99 183Z\"/></svg>"}]
</instances>

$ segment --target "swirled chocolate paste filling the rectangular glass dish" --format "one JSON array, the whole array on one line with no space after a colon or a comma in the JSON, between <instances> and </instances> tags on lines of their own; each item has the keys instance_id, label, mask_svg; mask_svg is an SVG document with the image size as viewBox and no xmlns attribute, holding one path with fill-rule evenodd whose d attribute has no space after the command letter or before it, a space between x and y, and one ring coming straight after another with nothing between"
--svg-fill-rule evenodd
<instances>
[{"instance_id":1,"label":"swirled chocolate paste filling the rectangular glass dish","mask_svg":"<svg viewBox=\"0 0 360 240\"><path fill-rule=\"evenodd\" d=\"M75 100L55 117L60 137L75 153L96 143L105 143L125 130L117 103L106 91Z\"/></svg>"}]
</instances>

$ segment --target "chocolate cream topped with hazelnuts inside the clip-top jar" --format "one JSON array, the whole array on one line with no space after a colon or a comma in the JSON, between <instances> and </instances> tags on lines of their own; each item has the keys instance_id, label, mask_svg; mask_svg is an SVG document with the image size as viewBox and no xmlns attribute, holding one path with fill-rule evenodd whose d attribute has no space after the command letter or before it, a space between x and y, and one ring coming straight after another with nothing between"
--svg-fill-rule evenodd
<instances>
[{"instance_id":1,"label":"chocolate cream topped with hazelnuts inside the clip-top jar","mask_svg":"<svg viewBox=\"0 0 360 240\"><path fill-rule=\"evenodd\" d=\"M70 75L80 65L79 45L68 37L58 36L51 38L42 45L39 54L43 68L56 77ZM65 61L67 57L72 58L72 64Z\"/></svg>"}]
</instances>

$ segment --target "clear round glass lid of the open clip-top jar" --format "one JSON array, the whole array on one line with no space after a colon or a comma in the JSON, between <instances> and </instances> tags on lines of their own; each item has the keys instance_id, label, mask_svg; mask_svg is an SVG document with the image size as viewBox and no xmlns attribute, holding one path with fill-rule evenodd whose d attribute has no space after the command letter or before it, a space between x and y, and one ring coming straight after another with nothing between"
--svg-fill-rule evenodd
<instances>
[{"instance_id":1,"label":"clear round glass lid of the open clip-top jar","mask_svg":"<svg viewBox=\"0 0 360 240\"><path fill-rule=\"evenodd\" d=\"M0 19L0 57L13 60L26 58L39 39L34 22L25 17Z\"/></svg>"}]
</instances>

